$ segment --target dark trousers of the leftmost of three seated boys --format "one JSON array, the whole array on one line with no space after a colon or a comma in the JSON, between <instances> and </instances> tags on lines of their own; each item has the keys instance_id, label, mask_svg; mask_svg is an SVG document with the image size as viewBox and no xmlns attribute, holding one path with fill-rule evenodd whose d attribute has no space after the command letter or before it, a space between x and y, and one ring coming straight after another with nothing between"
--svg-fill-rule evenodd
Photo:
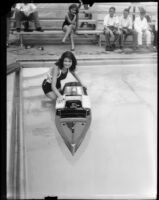
<instances>
[{"instance_id":1,"label":"dark trousers of the leftmost of three seated boys","mask_svg":"<svg viewBox=\"0 0 159 200\"><path fill-rule=\"evenodd\" d=\"M116 27L110 26L108 27L108 29L104 29L106 46L110 46L110 31L113 33L114 36L113 44L115 44L120 38L120 32L117 30Z\"/></svg>"}]
</instances>

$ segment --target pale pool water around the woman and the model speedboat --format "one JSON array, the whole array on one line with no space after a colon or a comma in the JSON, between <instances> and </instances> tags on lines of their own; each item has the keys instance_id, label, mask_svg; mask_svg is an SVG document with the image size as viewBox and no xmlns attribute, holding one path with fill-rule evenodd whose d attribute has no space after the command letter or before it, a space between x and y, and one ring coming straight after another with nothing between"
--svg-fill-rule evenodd
<instances>
[{"instance_id":1,"label":"pale pool water around the woman and the model speedboat","mask_svg":"<svg viewBox=\"0 0 159 200\"><path fill-rule=\"evenodd\" d=\"M20 63L24 152L19 162L25 178L19 181L25 182L20 196L152 198L156 192L156 60L79 64L79 76L91 99L92 123L74 157L55 127L54 106L41 88L53 62Z\"/></svg>"}]
</instances>

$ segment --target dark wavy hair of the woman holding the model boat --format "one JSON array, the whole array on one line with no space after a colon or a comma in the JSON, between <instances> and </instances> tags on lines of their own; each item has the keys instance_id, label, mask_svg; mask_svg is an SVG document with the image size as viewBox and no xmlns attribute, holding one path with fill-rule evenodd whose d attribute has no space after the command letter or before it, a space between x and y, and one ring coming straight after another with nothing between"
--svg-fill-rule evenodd
<instances>
[{"instance_id":1,"label":"dark wavy hair of the woman holding the model boat","mask_svg":"<svg viewBox=\"0 0 159 200\"><path fill-rule=\"evenodd\" d=\"M55 65L57 65L60 69L62 69L63 66L63 62L65 58L69 58L70 60L72 60L72 66L69 68L69 71L74 72L76 69L76 65L77 65L77 60L74 56L74 54L71 51L65 51L61 57L59 58L59 60L55 63Z\"/></svg>"}]
</instances>

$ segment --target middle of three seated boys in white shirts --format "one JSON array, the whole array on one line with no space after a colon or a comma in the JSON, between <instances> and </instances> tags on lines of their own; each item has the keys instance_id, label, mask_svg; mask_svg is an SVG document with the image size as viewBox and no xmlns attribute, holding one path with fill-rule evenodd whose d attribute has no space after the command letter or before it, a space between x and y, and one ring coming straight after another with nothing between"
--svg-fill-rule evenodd
<instances>
[{"instance_id":1,"label":"middle of three seated boys in white shirts","mask_svg":"<svg viewBox=\"0 0 159 200\"><path fill-rule=\"evenodd\" d=\"M136 49L137 42L137 32L132 28L132 18L129 16L129 10L131 7L124 9L123 15L119 19L119 28L122 32L122 35L119 39L119 45L122 49L124 46L124 41L128 35L133 36L133 48Z\"/></svg>"}]
</instances>

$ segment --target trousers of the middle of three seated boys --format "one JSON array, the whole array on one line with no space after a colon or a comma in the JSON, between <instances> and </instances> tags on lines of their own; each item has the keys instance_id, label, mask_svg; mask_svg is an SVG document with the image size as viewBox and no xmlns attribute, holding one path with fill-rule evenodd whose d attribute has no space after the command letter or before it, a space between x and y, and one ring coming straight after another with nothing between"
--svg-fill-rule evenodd
<instances>
[{"instance_id":1,"label":"trousers of the middle of three seated boys","mask_svg":"<svg viewBox=\"0 0 159 200\"><path fill-rule=\"evenodd\" d=\"M128 29L128 28L122 28L121 30L121 37L119 38L119 45L124 46L124 42L126 41L126 38L128 35L133 36L133 47L136 47L137 44L137 32L133 29Z\"/></svg>"}]
</instances>

